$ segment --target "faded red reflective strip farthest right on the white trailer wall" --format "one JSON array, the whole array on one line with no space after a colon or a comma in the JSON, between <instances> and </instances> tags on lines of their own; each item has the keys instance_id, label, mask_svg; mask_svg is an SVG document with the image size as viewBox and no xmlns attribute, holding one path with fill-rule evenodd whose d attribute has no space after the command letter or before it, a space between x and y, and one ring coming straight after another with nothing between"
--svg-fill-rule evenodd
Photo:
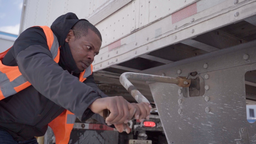
<instances>
[{"instance_id":1,"label":"faded red reflective strip farthest right on the white trailer wall","mask_svg":"<svg viewBox=\"0 0 256 144\"><path fill-rule=\"evenodd\" d=\"M188 18L197 13L196 3L181 9L171 15L171 23L174 24L182 19Z\"/></svg>"}]
</instances>

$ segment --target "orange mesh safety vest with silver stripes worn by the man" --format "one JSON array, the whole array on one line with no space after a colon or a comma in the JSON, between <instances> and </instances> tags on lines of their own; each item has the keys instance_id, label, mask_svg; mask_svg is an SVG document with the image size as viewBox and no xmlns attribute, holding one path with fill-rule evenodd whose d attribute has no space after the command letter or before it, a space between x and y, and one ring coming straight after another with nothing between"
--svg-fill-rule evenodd
<instances>
[{"instance_id":1,"label":"orange mesh safety vest with silver stripes worn by the man","mask_svg":"<svg viewBox=\"0 0 256 144\"><path fill-rule=\"evenodd\" d=\"M39 27L44 30L47 45L53 56L53 60L58 63L60 60L60 46L57 37L53 34L49 27ZM18 93L28 86L31 86L31 83L29 83L20 73L18 66L5 66L2 64L1 60L4 58L9 49L3 53L0 53L0 100ZM79 81L85 81L86 78L91 74L92 65L80 73ZM63 113L48 124L53 129L56 144L67 144L69 142L70 133L73 129L75 120L76 116L72 112L64 110Z\"/></svg>"}]
</instances>

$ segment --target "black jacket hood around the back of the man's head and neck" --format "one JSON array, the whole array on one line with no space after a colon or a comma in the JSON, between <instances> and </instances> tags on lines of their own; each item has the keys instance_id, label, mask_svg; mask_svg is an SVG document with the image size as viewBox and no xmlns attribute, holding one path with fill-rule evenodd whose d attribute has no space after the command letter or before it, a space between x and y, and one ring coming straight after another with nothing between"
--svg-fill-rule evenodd
<instances>
[{"instance_id":1,"label":"black jacket hood around the back of the man's head and neck","mask_svg":"<svg viewBox=\"0 0 256 144\"><path fill-rule=\"evenodd\" d=\"M59 65L68 71L74 71L74 73L80 73L72 53L69 48L69 44L65 42L69 30L76 24L78 21L87 21L86 19L78 19L76 14L69 12L65 15L58 17L53 24L51 25L51 30L54 35L56 35L59 45L60 45L60 61Z\"/></svg>"}]
</instances>

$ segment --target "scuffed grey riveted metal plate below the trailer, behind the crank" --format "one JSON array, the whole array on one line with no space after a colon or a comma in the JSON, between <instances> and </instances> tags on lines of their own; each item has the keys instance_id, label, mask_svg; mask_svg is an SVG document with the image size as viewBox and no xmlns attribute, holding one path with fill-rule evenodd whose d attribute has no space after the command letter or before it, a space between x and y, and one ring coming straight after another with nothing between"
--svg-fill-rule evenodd
<instances>
[{"instance_id":1,"label":"scuffed grey riveted metal plate below the trailer, behind the crank","mask_svg":"<svg viewBox=\"0 0 256 144\"><path fill-rule=\"evenodd\" d=\"M184 97L173 84L149 84L168 143L256 143L256 125L246 116L244 82L245 73L256 70L255 47L252 41L148 72L177 77L177 70L179 76L196 71L205 81L205 93L196 97Z\"/></svg>"}]
</instances>

